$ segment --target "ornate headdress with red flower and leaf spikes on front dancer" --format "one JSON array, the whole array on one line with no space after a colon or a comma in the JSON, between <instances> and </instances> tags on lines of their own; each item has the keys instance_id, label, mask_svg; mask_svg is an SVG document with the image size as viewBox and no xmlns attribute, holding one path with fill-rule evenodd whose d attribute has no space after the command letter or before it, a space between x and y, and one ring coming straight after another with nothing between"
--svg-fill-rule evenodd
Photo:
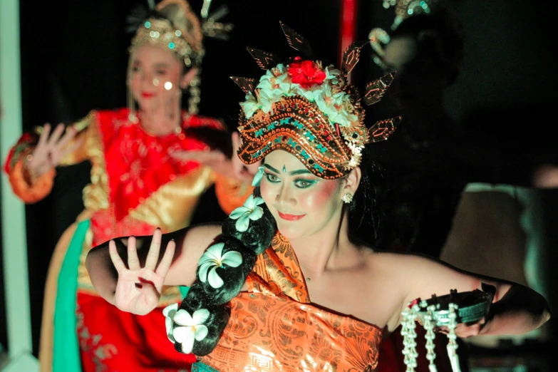
<instances>
[{"instance_id":1,"label":"ornate headdress with red flower and leaf spikes on front dancer","mask_svg":"<svg viewBox=\"0 0 558 372\"><path fill-rule=\"evenodd\" d=\"M343 177L360 164L364 145L386 140L401 117L378 121L370 130L363 123L361 97L346 77L368 41L351 44L338 70L316 61L309 43L296 31L282 23L281 28L289 45L309 58L291 58L283 64L272 53L248 48L267 72L257 85L251 78L232 77L246 93L240 103L243 144L238 155L252 164L273 150L286 150L318 177ZM364 103L381 100L392 81L390 73L369 83Z\"/></svg>"}]
</instances>

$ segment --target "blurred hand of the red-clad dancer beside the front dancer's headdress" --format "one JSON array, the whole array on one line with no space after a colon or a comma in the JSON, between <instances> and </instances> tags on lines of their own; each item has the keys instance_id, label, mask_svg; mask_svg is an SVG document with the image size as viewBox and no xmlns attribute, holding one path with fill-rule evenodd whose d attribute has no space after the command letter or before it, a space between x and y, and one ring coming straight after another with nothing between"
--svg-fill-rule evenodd
<instances>
[{"instance_id":1,"label":"blurred hand of the red-clad dancer beside the front dancer's headdress","mask_svg":"<svg viewBox=\"0 0 558 372\"><path fill-rule=\"evenodd\" d=\"M258 171L260 162L245 165L236 154L236 149L240 147L242 140L238 133L232 133L233 154L229 159L219 150L209 151L174 151L170 156L177 160L199 162L202 165L211 167L215 172L241 182L252 182L252 178Z\"/></svg>"}]
</instances>

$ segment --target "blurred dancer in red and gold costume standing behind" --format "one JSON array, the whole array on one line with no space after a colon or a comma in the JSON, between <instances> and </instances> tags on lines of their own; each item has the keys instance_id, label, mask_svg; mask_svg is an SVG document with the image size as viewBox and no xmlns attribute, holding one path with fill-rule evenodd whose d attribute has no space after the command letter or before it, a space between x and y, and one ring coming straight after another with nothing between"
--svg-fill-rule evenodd
<instances>
[{"instance_id":1,"label":"blurred dancer in red and gold costume standing behind","mask_svg":"<svg viewBox=\"0 0 558 372\"><path fill-rule=\"evenodd\" d=\"M83 264L89 249L107 239L187 226L214 182L225 212L252 192L252 176L232 163L237 157L231 162L210 148L210 140L226 135L224 125L197 115L202 29L228 28L208 20L212 29L202 27L186 1L162 1L138 25L130 46L130 107L94 110L66 132L47 124L40 135L24 135L9 155L6 172L26 203L48 195L57 166L92 164L85 210L61 237L49 267L41 371L177 371L189 365L164 347L164 335L140 336L155 334L162 307L182 300L178 287L165 287L157 311L133 316L98 296ZM180 108L186 90L188 111ZM238 145L238 136L233 142ZM202 150L212 150L214 169L186 160L190 151Z\"/></svg>"}]
</instances>

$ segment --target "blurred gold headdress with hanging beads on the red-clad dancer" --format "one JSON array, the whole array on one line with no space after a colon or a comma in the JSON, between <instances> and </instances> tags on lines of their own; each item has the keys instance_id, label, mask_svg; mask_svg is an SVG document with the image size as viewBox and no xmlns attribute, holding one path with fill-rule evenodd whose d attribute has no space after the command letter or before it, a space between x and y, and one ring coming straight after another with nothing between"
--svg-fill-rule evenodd
<instances>
[{"instance_id":1,"label":"blurred gold headdress with hanging beads on the red-clad dancer","mask_svg":"<svg viewBox=\"0 0 558 372\"><path fill-rule=\"evenodd\" d=\"M135 48L145 43L160 46L177 53L187 67L196 67L197 76L190 82L190 100L188 111L197 113L197 104L200 103L200 67L205 55L202 39L204 36L221 38L226 40L228 32L232 30L232 24L218 22L228 12L222 6L215 14L209 15L212 0L204 0L201 11L201 19L192 11L185 0L163 0L153 10L157 15L143 20L138 27L129 48L132 53ZM133 98L129 100L130 115L134 115Z\"/></svg>"}]
</instances>

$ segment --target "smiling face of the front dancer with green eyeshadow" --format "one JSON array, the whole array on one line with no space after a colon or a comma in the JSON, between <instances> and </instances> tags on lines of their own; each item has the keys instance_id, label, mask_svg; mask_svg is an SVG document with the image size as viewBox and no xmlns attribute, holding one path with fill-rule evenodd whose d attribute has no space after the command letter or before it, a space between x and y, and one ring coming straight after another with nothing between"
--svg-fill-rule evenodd
<instances>
[{"instance_id":1,"label":"smiling face of the front dancer with green eyeshadow","mask_svg":"<svg viewBox=\"0 0 558 372\"><path fill-rule=\"evenodd\" d=\"M316 177L286 151L265 157L262 197L288 239L314 235L329 224L338 226L342 185L341 180Z\"/></svg>"}]
</instances>

